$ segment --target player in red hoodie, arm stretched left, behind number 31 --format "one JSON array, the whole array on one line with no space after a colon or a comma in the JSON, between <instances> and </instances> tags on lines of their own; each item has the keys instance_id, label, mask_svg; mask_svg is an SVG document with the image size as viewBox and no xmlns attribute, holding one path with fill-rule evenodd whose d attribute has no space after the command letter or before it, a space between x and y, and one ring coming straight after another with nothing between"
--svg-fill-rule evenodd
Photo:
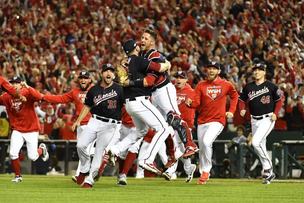
<instances>
[{"instance_id":1,"label":"player in red hoodie, arm stretched left, behind number 31","mask_svg":"<svg viewBox=\"0 0 304 203\"><path fill-rule=\"evenodd\" d=\"M50 103L69 103L74 101L75 103L75 119L78 119L80 112L82 108L84 107L83 103L85 102L85 96L87 95L89 89L94 86L91 82L91 75L88 71L81 71L78 76L78 88L72 89L70 92L65 93L63 95L43 95L41 94L43 100L50 102ZM91 113L88 113L88 115L81 121L80 126L77 128L77 140L81 135L81 132L86 128L88 121L91 117ZM88 145L88 153L91 155L94 155L94 149L93 147L94 143L90 143ZM80 173L80 160L78 164L78 168L76 170L75 176L72 176L72 180L76 182L76 179Z\"/></svg>"}]
</instances>

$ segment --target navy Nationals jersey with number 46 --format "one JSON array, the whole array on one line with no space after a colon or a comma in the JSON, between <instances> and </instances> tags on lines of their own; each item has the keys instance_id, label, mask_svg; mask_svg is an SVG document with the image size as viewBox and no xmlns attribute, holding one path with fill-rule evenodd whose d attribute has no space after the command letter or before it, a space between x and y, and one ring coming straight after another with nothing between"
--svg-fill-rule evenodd
<instances>
[{"instance_id":1,"label":"navy Nationals jersey with number 46","mask_svg":"<svg viewBox=\"0 0 304 203\"><path fill-rule=\"evenodd\" d=\"M255 81L248 82L239 95L239 100L248 100L250 114L253 116L274 112L275 102L281 98L278 85L268 80L259 85Z\"/></svg>"}]
</instances>

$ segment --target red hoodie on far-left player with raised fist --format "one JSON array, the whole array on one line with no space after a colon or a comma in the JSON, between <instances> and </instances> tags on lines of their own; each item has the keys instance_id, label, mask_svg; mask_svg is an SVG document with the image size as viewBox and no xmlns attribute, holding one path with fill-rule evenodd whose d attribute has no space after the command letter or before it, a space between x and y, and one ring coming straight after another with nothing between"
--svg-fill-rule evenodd
<instances>
[{"instance_id":1,"label":"red hoodie on far-left player with raised fist","mask_svg":"<svg viewBox=\"0 0 304 203\"><path fill-rule=\"evenodd\" d=\"M0 97L0 106L5 105L12 130L21 133L38 132L40 123L35 111L34 103L42 99L39 92L33 87L22 88L20 93L26 97L26 102L12 95L4 94Z\"/></svg>"}]
</instances>

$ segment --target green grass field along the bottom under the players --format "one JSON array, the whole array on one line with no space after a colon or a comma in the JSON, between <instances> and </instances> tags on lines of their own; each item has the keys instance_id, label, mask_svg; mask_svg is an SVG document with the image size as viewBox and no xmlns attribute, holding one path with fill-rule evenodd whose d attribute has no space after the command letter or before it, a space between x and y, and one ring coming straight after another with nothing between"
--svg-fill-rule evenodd
<instances>
[{"instance_id":1,"label":"green grass field along the bottom under the players","mask_svg":"<svg viewBox=\"0 0 304 203\"><path fill-rule=\"evenodd\" d=\"M206 185L183 178L166 181L161 177L128 178L118 187L116 177L102 177L92 189L81 188L66 176L24 175L23 182L11 183L12 175L0 175L0 202L303 202L303 181L210 179Z\"/></svg>"}]
</instances>

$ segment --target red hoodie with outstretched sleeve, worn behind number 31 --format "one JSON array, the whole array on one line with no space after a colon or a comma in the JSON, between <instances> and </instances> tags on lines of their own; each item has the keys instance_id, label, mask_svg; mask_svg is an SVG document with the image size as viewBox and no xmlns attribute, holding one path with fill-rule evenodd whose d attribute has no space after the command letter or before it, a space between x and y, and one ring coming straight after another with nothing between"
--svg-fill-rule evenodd
<instances>
[{"instance_id":1,"label":"red hoodie with outstretched sleeve, worn behind number 31","mask_svg":"<svg viewBox=\"0 0 304 203\"><path fill-rule=\"evenodd\" d=\"M77 120L82 108L84 107L83 103L85 102L85 96L87 95L89 89L94 86L91 84L85 91L81 91L80 88L72 89L70 92L63 94L63 95L43 95L43 100L46 100L50 103L69 103L74 101L76 113L75 113L75 119ZM81 125L86 125L89 122L89 119L91 118L91 113L88 113L88 115L81 121Z\"/></svg>"}]
</instances>

